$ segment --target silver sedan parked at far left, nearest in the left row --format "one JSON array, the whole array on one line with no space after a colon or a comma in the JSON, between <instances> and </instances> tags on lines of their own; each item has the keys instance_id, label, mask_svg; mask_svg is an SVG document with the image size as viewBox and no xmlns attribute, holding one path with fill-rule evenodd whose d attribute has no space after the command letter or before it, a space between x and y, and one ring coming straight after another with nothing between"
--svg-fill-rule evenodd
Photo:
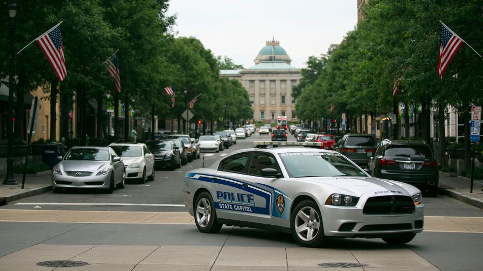
<instances>
[{"instance_id":1,"label":"silver sedan parked at far left, nearest in the left row","mask_svg":"<svg viewBox=\"0 0 483 271\"><path fill-rule=\"evenodd\" d=\"M112 193L124 188L125 167L111 147L73 147L52 168L54 192L62 188L101 188Z\"/></svg>"}]
</instances>

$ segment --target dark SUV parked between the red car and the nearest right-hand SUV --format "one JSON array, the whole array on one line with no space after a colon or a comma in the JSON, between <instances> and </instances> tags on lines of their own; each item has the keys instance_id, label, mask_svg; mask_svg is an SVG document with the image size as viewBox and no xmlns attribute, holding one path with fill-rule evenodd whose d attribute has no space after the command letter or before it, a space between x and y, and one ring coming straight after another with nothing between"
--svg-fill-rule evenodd
<instances>
[{"instance_id":1,"label":"dark SUV parked between the red car and the nearest right-hand SUV","mask_svg":"<svg viewBox=\"0 0 483 271\"><path fill-rule=\"evenodd\" d=\"M369 157L376 151L376 141L370 134L344 134L334 150L358 166L367 168Z\"/></svg>"}]
</instances>

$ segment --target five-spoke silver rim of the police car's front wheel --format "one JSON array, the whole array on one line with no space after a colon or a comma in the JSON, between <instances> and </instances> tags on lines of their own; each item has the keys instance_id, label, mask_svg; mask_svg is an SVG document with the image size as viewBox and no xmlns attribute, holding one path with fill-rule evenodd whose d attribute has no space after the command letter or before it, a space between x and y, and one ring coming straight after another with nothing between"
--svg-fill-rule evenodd
<instances>
[{"instance_id":1,"label":"five-spoke silver rim of the police car's front wheel","mask_svg":"<svg viewBox=\"0 0 483 271\"><path fill-rule=\"evenodd\" d=\"M312 241L319 233L320 218L312 207L304 207L298 211L294 222L295 232L303 241Z\"/></svg>"}]
</instances>

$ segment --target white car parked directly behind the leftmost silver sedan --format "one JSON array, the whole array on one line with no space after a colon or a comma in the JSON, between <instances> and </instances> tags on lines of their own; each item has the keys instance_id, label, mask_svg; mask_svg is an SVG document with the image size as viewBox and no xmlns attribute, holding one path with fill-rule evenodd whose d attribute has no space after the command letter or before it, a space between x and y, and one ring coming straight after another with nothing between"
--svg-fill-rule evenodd
<instances>
[{"instance_id":1,"label":"white car parked directly behind the leftmost silver sedan","mask_svg":"<svg viewBox=\"0 0 483 271\"><path fill-rule=\"evenodd\" d=\"M144 143L112 143L109 145L126 166L126 179L153 181L155 177L154 155Z\"/></svg>"}]
</instances>

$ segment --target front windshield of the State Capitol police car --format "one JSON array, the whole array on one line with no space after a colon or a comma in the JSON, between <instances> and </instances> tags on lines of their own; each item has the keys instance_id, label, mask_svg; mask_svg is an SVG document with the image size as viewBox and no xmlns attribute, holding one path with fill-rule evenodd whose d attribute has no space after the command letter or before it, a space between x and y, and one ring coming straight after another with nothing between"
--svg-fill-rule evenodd
<instances>
[{"instance_id":1,"label":"front windshield of the State Capitol police car","mask_svg":"<svg viewBox=\"0 0 483 271\"><path fill-rule=\"evenodd\" d=\"M289 152L279 155L292 178L366 176L339 153Z\"/></svg>"}]
</instances>

